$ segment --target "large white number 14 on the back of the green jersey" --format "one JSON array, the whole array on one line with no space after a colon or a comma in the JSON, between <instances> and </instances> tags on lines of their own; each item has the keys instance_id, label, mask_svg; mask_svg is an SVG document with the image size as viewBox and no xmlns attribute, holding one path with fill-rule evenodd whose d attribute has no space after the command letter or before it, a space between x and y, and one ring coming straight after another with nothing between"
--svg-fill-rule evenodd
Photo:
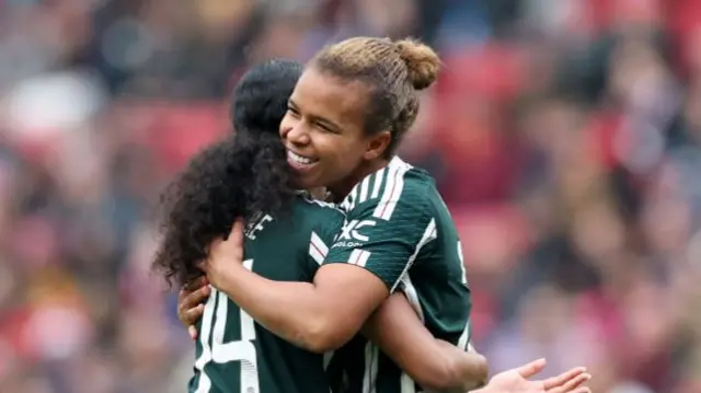
<instances>
[{"instance_id":1,"label":"large white number 14 on the back of the green jersey","mask_svg":"<svg viewBox=\"0 0 701 393\"><path fill-rule=\"evenodd\" d=\"M253 259L244 261L243 266L251 270ZM229 298L212 288L202 320L202 332L199 333L202 355L195 361L195 369L199 371L199 383L195 393L208 393L211 389L211 380L204 370L205 365L210 361L215 363L240 361L240 392L258 393L261 391L258 385L257 357L255 355L255 346L253 345L253 340L255 339L255 324L251 315L240 309L241 339L225 343L223 332L227 326L228 304ZM211 347L209 346L210 340Z\"/></svg>"}]
</instances>

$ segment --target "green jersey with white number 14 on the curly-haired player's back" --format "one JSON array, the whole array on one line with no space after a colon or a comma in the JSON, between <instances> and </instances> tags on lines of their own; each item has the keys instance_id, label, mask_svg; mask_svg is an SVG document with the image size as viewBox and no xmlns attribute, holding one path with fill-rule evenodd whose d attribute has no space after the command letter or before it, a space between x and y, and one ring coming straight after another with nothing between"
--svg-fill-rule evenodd
<instances>
[{"instance_id":1,"label":"green jersey with white number 14 on the curly-haired player's back","mask_svg":"<svg viewBox=\"0 0 701 393\"><path fill-rule=\"evenodd\" d=\"M302 196L278 218L261 215L245 231L244 266L273 280L311 281L343 219ZM266 331L214 288L198 332L191 393L329 393L322 355Z\"/></svg>"}]
</instances>

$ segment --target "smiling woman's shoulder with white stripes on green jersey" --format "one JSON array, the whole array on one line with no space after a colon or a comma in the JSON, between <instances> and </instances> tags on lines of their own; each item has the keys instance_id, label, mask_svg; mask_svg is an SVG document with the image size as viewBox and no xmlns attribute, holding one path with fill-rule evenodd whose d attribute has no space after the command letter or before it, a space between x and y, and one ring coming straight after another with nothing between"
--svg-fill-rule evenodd
<instances>
[{"instance_id":1,"label":"smiling woman's shoulder with white stripes on green jersey","mask_svg":"<svg viewBox=\"0 0 701 393\"><path fill-rule=\"evenodd\" d=\"M338 205L348 215L368 215L390 220L398 207L421 210L430 200L435 182L423 170L399 157L374 174L366 176Z\"/></svg>"}]
</instances>

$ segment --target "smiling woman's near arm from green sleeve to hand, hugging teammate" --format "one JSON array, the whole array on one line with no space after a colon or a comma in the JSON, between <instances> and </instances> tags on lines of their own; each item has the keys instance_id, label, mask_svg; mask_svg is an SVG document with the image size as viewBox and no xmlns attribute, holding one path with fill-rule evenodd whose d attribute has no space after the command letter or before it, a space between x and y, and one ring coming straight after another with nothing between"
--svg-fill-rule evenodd
<instances>
[{"instance_id":1,"label":"smiling woman's near arm from green sleeve to hand, hugging teammate","mask_svg":"<svg viewBox=\"0 0 701 393\"><path fill-rule=\"evenodd\" d=\"M391 221L374 216L387 211L386 205L391 205ZM394 289L433 222L421 200L390 199L352 213L312 284L273 281L243 268L241 224L227 241L212 243L204 269L216 288L271 332L311 351L336 349Z\"/></svg>"}]
</instances>

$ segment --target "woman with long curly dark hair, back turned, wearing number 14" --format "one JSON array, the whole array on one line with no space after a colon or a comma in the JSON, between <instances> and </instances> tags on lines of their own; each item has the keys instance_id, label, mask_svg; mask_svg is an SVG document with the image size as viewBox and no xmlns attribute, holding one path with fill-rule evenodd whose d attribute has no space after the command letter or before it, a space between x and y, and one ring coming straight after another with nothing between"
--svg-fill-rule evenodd
<instances>
[{"instance_id":1,"label":"woman with long curly dark hair, back turned, wearing number 14","mask_svg":"<svg viewBox=\"0 0 701 393\"><path fill-rule=\"evenodd\" d=\"M311 281L344 216L294 187L298 178L287 163L277 127L300 73L299 65L280 60L248 72L231 106L235 135L193 158L168 187L163 240L153 267L169 282L185 285L200 278L197 263L208 257L212 240L229 233L237 217L248 222L246 269L279 281ZM255 263L281 256L295 262ZM321 355L254 324L223 292L209 286L198 291L207 302L197 328L191 392L329 392ZM393 327L398 325L400 332ZM428 385L462 385L475 362L484 370L483 358L434 339L401 294L392 297L367 326L383 332L377 344L407 359L406 371Z\"/></svg>"}]
</instances>

